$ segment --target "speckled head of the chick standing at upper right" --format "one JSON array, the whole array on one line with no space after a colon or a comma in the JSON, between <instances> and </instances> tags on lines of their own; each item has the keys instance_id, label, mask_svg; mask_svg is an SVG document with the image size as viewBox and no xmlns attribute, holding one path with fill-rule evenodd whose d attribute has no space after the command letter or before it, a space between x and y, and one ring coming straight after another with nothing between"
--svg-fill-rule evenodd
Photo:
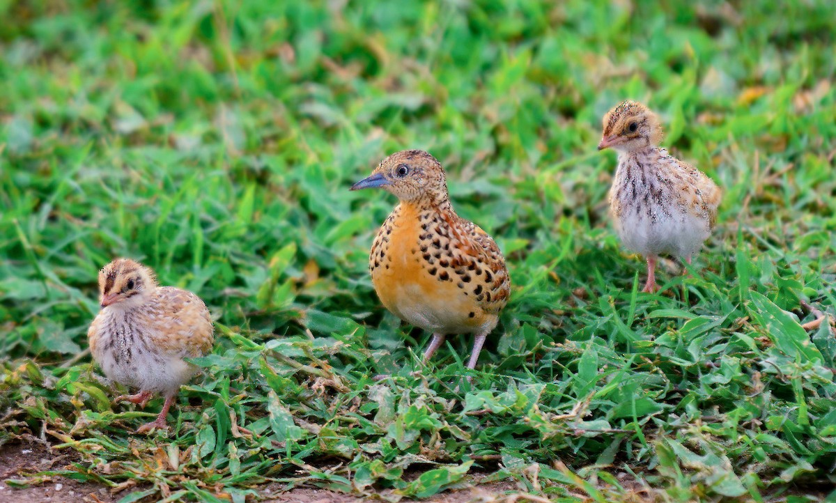
<instances>
[{"instance_id":1,"label":"speckled head of the chick standing at upper right","mask_svg":"<svg viewBox=\"0 0 836 503\"><path fill-rule=\"evenodd\" d=\"M636 101L624 101L609 110L602 122L604 133L598 150L612 148L619 152L630 152L659 145L662 140L659 117Z\"/></svg>"}]
</instances>

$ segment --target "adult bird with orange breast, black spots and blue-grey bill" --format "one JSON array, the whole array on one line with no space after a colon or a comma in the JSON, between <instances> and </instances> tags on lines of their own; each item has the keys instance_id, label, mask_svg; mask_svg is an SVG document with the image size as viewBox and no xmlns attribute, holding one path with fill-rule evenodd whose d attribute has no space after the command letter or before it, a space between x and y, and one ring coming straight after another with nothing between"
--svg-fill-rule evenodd
<instances>
[{"instance_id":1,"label":"adult bird with orange breast, black spots and blue-grey bill","mask_svg":"<svg viewBox=\"0 0 836 503\"><path fill-rule=\"evenodd\" d=\"M467 368L476 368L511 294L499 246L479 226L456 215L444 168L424 150L386 157L351 190L372 187L400 201L380 227L369 256L380 302L406 323L432 333L424 363L447 335L473 334Z\"/></svg>"}]
</instances>

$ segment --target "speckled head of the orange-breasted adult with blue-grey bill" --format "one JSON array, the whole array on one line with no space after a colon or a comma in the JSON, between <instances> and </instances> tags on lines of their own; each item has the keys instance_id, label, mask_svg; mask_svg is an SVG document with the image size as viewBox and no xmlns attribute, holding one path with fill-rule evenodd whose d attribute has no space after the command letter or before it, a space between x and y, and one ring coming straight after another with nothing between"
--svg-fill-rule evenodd
<instances>
[{"instance_id":1,"label":"speckled head of the orange-breasted adult with blue-grey bill","mask_svg":"<svg viewBox=\"0 0 836 503\"><path fill-rule=\"evenodd\" d=\"M385 158L372 174L351 185L352 191L380 187L398 196L400 201L447 198L444 168L424 150L403 150Z\"/></svg>"}]
</instances>

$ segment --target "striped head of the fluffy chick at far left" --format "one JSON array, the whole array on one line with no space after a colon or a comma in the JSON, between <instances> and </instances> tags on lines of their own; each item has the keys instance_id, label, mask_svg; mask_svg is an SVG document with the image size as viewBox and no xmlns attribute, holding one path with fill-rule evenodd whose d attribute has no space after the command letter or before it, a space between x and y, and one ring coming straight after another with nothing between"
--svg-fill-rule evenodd
<instances>
[{"instance_id":1,"label":"striped head of the fluffy chick at far left","mask_svg":"<svg viewBox=\"0 0 836 503\"><path fill-rule=\"evenodd\" d=\"M101 307L135 307L145 303L156 287L154 272L130 258L117 258L99 271Z\"/></svg>"}]
</instances>

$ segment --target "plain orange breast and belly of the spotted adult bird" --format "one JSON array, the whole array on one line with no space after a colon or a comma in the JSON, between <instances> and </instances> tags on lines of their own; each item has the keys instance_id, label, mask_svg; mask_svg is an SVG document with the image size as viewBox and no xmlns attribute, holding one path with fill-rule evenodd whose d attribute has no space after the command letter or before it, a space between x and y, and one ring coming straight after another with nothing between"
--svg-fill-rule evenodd
<instances>
[{"instance_id":1,"label":"plain orange breast and belly of the spotted adult bird","mask_svg":"<svg viewBox=\"0 0 836 503\"><path fill-rule=\"evenodd\" d=\"M420 209L401 205L372 247L371 279L380 302L395 316L439 333L470 333L496 318L475 298L441 281L421 253ZM382 252L382 257L381 257Z\"/></svg>"}]
</instances>

